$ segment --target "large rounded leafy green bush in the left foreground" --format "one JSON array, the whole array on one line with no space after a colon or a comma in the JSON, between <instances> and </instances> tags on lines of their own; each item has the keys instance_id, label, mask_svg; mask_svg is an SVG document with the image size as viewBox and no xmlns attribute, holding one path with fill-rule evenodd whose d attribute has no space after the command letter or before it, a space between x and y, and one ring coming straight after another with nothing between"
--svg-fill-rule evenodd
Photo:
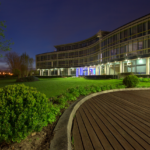
<instances>
[{"instance_id":1,"label":"large rounded leafy green bush in the left foreground","mask_svg":"<svg viewBox=\"0 0 150 150\"><path fill-rule=\"evenodd\" d=\"M21 142L32 132L39 132L56 119L60 109L45 94L24 84L0 89L1 142Z\"/></svg>"}]
</instances>

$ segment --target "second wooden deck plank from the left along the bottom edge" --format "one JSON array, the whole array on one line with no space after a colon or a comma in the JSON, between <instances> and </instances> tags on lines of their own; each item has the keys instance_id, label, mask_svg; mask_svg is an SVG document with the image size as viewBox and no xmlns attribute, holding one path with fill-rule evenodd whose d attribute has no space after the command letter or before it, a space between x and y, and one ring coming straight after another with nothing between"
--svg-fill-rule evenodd
<instances>
[{"instance_id":1,"label":"second wooden deck plank from the left along the bottom edge","mask_svg":"<svg viewBox=\"0 0 150 150\"><path fill-rule=\"evenodd\" d=\"M79 131L80 131L80 134L82 137L84 149L85 150L94 150L79 111L76 112L76 118L77 118L77 123L79 126Z\"/></svg>"}]
</instances>

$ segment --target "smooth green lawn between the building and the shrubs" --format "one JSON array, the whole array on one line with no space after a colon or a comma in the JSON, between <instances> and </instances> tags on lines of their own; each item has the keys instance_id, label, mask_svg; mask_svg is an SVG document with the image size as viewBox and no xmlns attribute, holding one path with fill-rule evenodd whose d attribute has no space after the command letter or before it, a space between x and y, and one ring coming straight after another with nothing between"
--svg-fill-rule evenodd
<instances>
[{"instance_id":1,"label":"smooth green lawn between the building and the shrubs","mask_svg":"<svg viewBox=\"0 0 150 150\"><path fill-rule=\"evenodd\" d=\"M10 84L21 84L15 82L16 79L0 79L0 88ZM36 82L24 82L23 84L37 88L38 91L46 94L48 98L60 95L65 92L67 88L86 85L106 85L106 84L121 84L122 81L118 79L108 80L91 80L84 78L40 78Z\"/></svg>"}]
</instances>

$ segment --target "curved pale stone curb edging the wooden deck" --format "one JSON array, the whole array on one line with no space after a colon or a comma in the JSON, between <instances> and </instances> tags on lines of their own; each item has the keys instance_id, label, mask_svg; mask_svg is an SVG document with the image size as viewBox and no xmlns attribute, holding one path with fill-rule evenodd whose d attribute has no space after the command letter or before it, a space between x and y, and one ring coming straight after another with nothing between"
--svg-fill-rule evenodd
<instances>
[{"instance_id":1,"label":"curved pale stone curb edging the wooden deck","mask_svg":"<svg viewBox=\"0 0 150 150\"><path fill-rule=\"evenodd\" d=\"M60 117L55 129L54 129L54 138L50 144L50 150L72 150L71 147L71 128L72 121L77 109L88 99L110 92L117 91L132 91L132 90L150 90L150 88L127 88L127 89L114 89L106 90L102 92L92 93L88 96L85 96L82 99L75 101L71 104Z\"/></svg>"}]
</instances>

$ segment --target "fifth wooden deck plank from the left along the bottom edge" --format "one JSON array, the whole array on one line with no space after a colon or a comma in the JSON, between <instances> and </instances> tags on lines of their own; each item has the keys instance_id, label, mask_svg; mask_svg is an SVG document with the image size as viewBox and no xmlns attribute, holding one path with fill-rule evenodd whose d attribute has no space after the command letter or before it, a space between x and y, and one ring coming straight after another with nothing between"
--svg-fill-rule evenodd
<instances>
[{"instance_id":1,"label":"fifth wooden deck plank from the left along the bottom edge","mask_svg":"<svg viewBox=\"0 0 150 150\"><path fill-rule=\"evenodd\" d=\"M95 111L93 109L91 109L91 106L88 106L87 103L84 103L84 105L87 107L87 109L91 113L92 117L97 122L97 124L99 125L99 127L101 128L101 130L103 131L103 133L105 134L105 136L108 139L108 141L111 143L112 147L115 150L123 150L123 148L120 145L120 143L118 142L118 140L116 140L116 138L113 136L113 134L111 133L111 131L105 126L105 124L103 123L103 121L101 120L101 118L99 116L97 116L97 114L95 113Z\"/></svg>"}]
</instances>

